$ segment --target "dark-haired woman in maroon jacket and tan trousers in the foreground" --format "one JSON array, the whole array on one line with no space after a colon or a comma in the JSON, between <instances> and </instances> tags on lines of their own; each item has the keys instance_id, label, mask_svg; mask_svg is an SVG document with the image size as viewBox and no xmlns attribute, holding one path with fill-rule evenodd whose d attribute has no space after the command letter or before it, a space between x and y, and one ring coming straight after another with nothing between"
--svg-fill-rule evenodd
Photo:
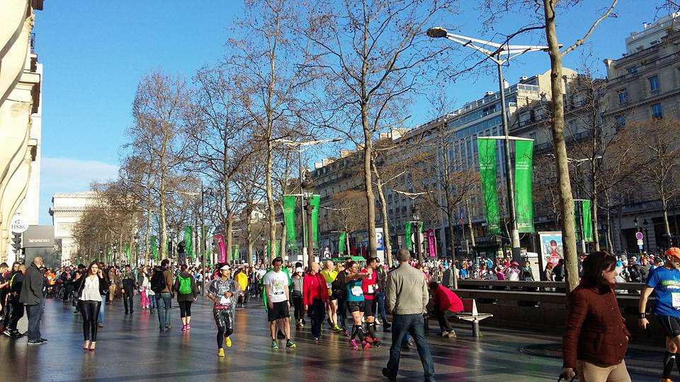
<instances>
[{"instance_id":1,"label":"dark-haired woman in maroon jacket and tan trousers in the foreground","mask_svg":"<svg viewBox=\"0 0 680 382\"><path fill-rule=\"evenodd\" d=\"M616 295L616 258L594 252L583 262L581 284L567 296L567 325L562 337L562 374L579 381L630 381L625 328Z\"/></svg>"}]
</instances>

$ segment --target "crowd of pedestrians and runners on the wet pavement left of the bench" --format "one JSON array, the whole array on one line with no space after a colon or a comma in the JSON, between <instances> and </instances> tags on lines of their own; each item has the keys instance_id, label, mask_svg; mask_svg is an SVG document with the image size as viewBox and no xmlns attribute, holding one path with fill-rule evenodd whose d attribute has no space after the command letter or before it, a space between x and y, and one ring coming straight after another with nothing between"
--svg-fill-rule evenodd
<instances>
[{"instance_id":1,"label":"crowd of pedestrians and runners on the wet pavement left of the bench","mask_svg":"<svg viewBox=\"0 0 680 382\"><path fill-rule=\"evenodd\" d=\"M123 300L125 315L135 314L135 307L156 315L161 333L172 330L170 308L176 300L181 330L186 332L191 330L192 303L202 294L205 284L205 296L212 302L212 320L217 327L218 357L224 357L225 348L232 346L235 311L262 305L272 349L280 345L295 349L295 332L305 330L309 324L314 342L324 335L327 325L329 335L344 336L350 349L365 351L382 345L378 331L382 326L383 330L392 329L390 361L382 374L394 381L402 348L416 346L426 381L433 381L433 361L424 337L430 294L435 304L431 314L438 319L443 337L455 337L446 317L463 306L453 291L430 282L431 274L443 272L443 267L434 262L418 264L407 250L399 250L396 257L392 267L382 265L377 257L361 264L327 260L306 268L300 262L284 264L276 257L271 264L256 266L217 264L202 269L173 266L166 259L155 267L95 261L57 270L47 269L42 258L35 257L28 265L16 262L10 268L0 264L1 330L13 340L28 337L28 345L44 344L47 340L40 332L40 321L45 299L52 298L72 303L82 321L82 348L88 352L96 350L106 306L116 300ZM257 298L262 299L262 304L248 304ZM17 323L25 313L28 331L22 333ZM391 314L391 323L387 313ZM291 316L295 332L290 328Z\"/></svg>"}]
</instances>

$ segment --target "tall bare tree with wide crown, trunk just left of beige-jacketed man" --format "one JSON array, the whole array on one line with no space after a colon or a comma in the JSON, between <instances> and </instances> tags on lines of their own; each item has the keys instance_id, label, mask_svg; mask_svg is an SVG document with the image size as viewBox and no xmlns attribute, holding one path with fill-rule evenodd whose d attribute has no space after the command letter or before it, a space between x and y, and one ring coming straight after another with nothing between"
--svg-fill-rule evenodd
<instances>
[{"instance_id":1,"label":"tall bare tree with wide crown, trunk just left of beige-jacketed man","mask_svg":"<svg viewBox=\"0 0 680 382\"><path fill-rule=\"evenodd\" d=\"M424 84L425 64L447 49L433 48L424 30L452 4L319 0L309 6L307 37L319 53L335 117L329 127L361 137L370 256L376 255L373 139L402 117L404 98Z\"/></svg>"}]
</instances>

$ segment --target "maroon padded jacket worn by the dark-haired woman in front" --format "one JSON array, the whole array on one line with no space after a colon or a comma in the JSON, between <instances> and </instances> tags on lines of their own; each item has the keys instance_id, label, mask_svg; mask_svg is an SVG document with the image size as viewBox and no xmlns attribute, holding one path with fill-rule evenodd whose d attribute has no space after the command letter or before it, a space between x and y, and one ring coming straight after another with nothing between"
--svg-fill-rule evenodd
<instances>
[{"instance_id":1,"label":"maroon padded jacket worn by the dark-haired woman in front","mask_svg":"<svg viewBox=\"0 0 680 382\"><path fill-rule=\"evenodd\" d=\"M567 296L567 325L562 337L564 367L576 369L578 359L619 364L629 339L613 290L579 285Z\"/></svg>"}]
</instances>

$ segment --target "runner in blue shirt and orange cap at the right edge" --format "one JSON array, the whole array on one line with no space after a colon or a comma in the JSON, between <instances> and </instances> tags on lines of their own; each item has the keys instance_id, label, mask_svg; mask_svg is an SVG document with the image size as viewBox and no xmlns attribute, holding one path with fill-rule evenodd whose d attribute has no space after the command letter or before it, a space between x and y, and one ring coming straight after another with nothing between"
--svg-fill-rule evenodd
<instances>
[{"instance_id":1,"label":"runner in blue shirt and orange cap at the right edge","mask_svg":"<svg viewBox=\"0 0 680 382\"><path fill-rule=\"evenodd\" d=\"M640 328L647 328L647 299L656 298L652 314L666 332L666 354L662 381L670 381L674 364L680 370L680 248L669 248L666 262L650 272L645 288L640 292Z\"/></svg>"}]
</instances>

